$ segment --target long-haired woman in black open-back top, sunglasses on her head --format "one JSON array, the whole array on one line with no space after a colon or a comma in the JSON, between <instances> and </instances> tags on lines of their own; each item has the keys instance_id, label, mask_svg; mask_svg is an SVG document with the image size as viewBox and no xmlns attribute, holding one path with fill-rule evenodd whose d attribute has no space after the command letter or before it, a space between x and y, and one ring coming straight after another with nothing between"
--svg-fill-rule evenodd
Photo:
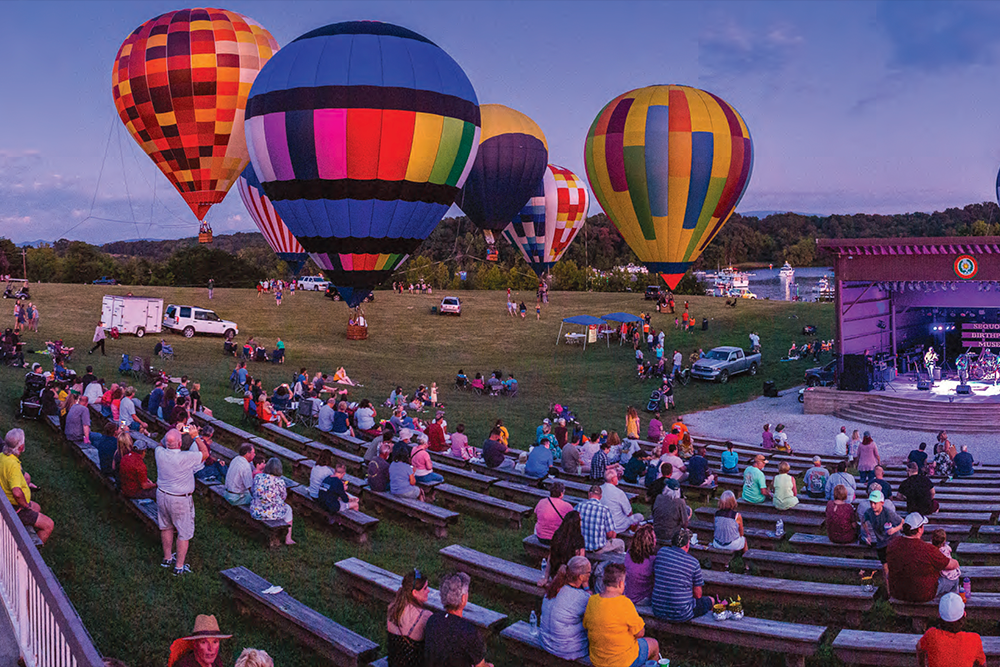
<instances>
[{"instance_id":1,"label":"long-haired woman in black open-back top, sunglasses on her head","mask_svg":"<svg viewBox=\"0 0 1000 667\"><path fill-rule=\"evenodd\" d=\"M430 591L430 582L420 570L414 568L403 575L386 619L389 667L424 667L424 630L431 617L426 608Z\"/></svg>"}]
</instances>

